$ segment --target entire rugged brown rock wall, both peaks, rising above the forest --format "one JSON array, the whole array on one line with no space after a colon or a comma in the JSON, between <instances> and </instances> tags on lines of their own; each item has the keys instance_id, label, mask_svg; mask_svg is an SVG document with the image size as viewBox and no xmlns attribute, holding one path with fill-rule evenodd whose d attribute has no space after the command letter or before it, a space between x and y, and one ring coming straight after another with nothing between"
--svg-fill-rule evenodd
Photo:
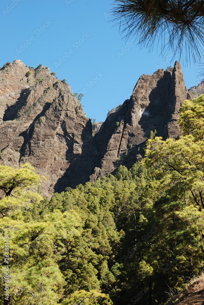
<instances>
[{"instance_id":1,"label":"entire rugged brown rock wall, both peaks, rising above the forest","mask_svg":"<svg viewBox=\"0 0 204 305\"><path fill-rule=\"evenodd\" d=\"M30 73L28 72L30 71ZM30 162L47 177L44 196L131 167L141 158L151 130L179 136L179 109L189 95L181 66L143 74L130 99L92 124L70 86L44 66L29 70L20 60L0 70L0 162Z\"/></svg>"}]
</instances>

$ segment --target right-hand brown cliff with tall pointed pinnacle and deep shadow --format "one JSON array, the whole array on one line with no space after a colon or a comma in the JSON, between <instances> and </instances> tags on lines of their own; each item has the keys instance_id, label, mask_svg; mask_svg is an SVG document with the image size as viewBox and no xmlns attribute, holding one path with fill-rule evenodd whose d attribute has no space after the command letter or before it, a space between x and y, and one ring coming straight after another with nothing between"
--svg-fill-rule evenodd
<instances>
[{"instance_id":1,"label":"right-hand brown cliff with tall pointed pinnacle and deep shadow","mask_svg":"<svg viewBox=\"0 0 204 305\"><path fill-rule=\"evenodd\" d=\"M181 65L174 70L143 74L132 93L119 108L108 113L96 135L100 151L98 166L90 181L114 173L120 164L131 167L144 156L143 148L150 132L164 139L179 136L177 119L185 99L192 99L184 84Z\"/></svg>"}]
</instances>

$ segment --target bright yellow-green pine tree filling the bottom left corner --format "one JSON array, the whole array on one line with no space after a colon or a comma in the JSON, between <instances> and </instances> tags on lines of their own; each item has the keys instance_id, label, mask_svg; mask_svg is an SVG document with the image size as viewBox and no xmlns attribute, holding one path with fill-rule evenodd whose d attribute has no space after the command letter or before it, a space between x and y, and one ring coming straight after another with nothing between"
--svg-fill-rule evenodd
<instances>
[{"instance_id":1,"label":"bright yellow-green pine tree filling the bottom left corner","mask_svg":"<svg viewBox=\"0 0 204 305\"><path fill-rule=\"evenodd\" d=\"M19 219L18 219L19 218ZM0 219L0 230L9 236L9 265L11 302L21 305L56 305L63 294L65 280L58 260L64 253L64 241L80 235L76 213L50 213L40 222L24 223L17 219ZM1 256L4 257L1 239ZM4 279L4 267L1 266ZM1 291L3 296L4 291Z\"/></svg>"}]
</instances>

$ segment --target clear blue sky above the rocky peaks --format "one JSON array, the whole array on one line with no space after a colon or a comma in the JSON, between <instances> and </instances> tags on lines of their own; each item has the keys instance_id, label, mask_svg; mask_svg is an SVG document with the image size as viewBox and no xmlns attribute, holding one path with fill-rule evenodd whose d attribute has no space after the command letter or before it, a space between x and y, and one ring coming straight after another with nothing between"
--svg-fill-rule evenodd
<instances>
[{"instance_id":1,"label":"clear blue sky above the rocky peaks","mask_svg":"<svg viewBox=\"0 0 204 305\"><path fill-rule=\"evenodd\" d=\"M39 64L83 92L84 112L97 122L132 94L141 74L174 65L155 49L123 41L109 9L112 0L4 0L0 3L0 66L20 59ZM182 63L181 63L182 65ZM199 70L182 65L187 88L198 84Z\"/></svg>"}]
</instances>

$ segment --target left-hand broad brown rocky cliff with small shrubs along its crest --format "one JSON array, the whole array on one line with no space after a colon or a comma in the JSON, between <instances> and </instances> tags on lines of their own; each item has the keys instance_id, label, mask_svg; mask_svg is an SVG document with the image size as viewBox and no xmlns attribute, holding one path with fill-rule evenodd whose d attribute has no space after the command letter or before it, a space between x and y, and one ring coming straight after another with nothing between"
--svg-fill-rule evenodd
<instances>
[{"instance_id":1,"label":"left-hand broad brown rocky cliff with small shrubs along its crest","mask_svg":"<svg viewBox=\"0 0 204 305\"><path fill-rule=\"evenodd\" d=\"M70 86L49 69L29 70L20 60L1 70L0 78L1 163L30 162L48 178L44 195L88 181L97 155L92 124Z\"/></svg>"}]
</instances>

